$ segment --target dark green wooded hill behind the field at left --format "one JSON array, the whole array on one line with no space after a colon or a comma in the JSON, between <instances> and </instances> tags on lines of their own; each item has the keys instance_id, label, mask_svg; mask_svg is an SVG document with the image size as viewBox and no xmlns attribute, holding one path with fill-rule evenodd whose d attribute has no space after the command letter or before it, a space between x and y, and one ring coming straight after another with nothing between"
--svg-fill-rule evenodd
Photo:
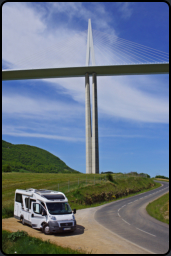
<instances>
[{"instance_id":1,"label":"dark green wooded hill behind the field at left","mask_svg":"<svg viewBox=\"0 0 171 256\"><path fill-rule=\"evenodd\" d=\"M7 167L15 172L80 173L44 149L2 140L2 170Z\"/></svg>"}]
</instances>

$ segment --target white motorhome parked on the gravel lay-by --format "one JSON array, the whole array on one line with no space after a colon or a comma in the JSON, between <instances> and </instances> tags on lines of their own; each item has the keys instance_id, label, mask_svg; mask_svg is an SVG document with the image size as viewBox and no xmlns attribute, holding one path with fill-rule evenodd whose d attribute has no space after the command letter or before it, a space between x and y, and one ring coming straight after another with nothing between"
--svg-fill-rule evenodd
<instances>
[{"instance_id":1,"label":"white motorhome parked on the gravel lay-by","mask_svg":"<svg viewBox=\"0 0 171 256\"><path fill-rule=\"evenodd\" d=\"M33 188L15 191L14 217L46 235L76 230L75 213L62 192Z\"/></svg>"}]
</instances>

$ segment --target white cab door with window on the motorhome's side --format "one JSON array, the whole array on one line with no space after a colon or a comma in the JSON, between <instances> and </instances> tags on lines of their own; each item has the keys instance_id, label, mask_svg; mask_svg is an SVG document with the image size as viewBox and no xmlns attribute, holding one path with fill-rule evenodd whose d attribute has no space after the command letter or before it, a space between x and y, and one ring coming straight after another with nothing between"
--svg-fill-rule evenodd
<instances>
[{"instance_id":1,"label":"white cab door with window on the motorhome's side","mask_svg":"<svg viewBox=\"0 0 171 256\"><path fill-rule=\"evenodd\" d=\"M31 224L32 228L41 228L41 223L46 222L47 216L43 216L42 212L45 210L39 203L31 203ZM46 211L46 210L45 210Z\"/></svg>"}]
</instances>

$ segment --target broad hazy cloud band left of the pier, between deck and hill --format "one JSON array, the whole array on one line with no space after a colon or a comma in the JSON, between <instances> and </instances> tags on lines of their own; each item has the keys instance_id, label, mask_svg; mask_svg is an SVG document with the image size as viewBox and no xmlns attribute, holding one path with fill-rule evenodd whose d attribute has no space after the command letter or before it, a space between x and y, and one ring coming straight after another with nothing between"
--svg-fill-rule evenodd
<instances>
[{"instance_id":1,"label":"broad hazy cloud band left of the pier, between deck and hill","mask_svg":"<svg viewBox=\"0 0 171 256\"><path fill-rule=\"evenodd\" d=\"M11 117L43 120L77 119L84 112L82 106L61 101L31 98L22 95L3 95L2 113Z\"/></svg>"}]
</instances>

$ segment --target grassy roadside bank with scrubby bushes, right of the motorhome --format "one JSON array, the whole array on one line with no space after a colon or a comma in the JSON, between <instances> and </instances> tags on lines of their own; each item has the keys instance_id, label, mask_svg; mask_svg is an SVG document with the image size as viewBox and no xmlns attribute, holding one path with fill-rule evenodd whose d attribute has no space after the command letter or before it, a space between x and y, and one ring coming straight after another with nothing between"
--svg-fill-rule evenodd
<instances>
[{"instance_id":1,"label":"grassy roadside bank with scrubby bushes, right of the motorhome","mask_svg":"<svg viewBox=\"0 0 171 256\"><path fill-rule=\"evenodd\" d=\"M65 194L72 209L84 209L142 193L160 186L160 183L155 183L152 179L128 177L126 179L116 179L114 183L107 181L104 184L79 187Z\"/></svg>"}]
</instances>

